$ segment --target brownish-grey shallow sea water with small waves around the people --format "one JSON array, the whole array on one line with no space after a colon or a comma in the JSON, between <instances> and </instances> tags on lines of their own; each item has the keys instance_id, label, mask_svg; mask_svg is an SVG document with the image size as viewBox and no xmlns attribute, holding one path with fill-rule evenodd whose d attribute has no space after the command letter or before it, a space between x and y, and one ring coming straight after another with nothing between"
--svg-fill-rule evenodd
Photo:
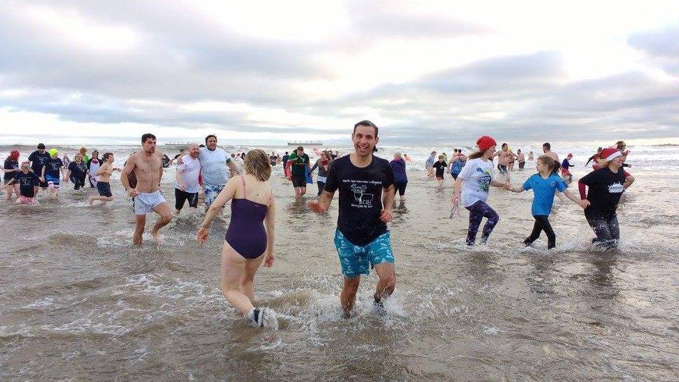
<instances>
[{"instance_id":1,"label":"brownish-grey shallow sea water with small waves around the people","mask_svg":"<svg viewBox=\"0 0 679 382\"><path fill-rule=\"evenodd\" d=\"M33 150L20 149L22 160ZM0 146L3 158L8 150ZM122 165L135 148L106 150ZM468 214L449 218L452 179L438 189L421 170L431 148L382 150L415 159L389 224L397 290L385 315L374 312L372 273L356 314L341 318L337 200L328 214L310 212L316 185L296 202L280 168L275 264L255 278L257 305L277 316L266 328L247 326L218 287L228 208L205 246L195 241L202 216L186 214L164 229L165 245L146 234L135 248L117 179L103 207L88 207L94 189L70 185L35 207L1 200L0 380L679 379L676 146L632 148L637 181L618 206L621 246L608 252L591 248L582 209L565 198L550 216L557 248L544 236L523 247L532 193L500 189L490 193L500 223L488 245L467 248ZM577 178L591 150L557 152L574 152ZM513 171L513 184L533 166ZM173 177L163 177L170 206Z\"/></svg>"}]
</instances>

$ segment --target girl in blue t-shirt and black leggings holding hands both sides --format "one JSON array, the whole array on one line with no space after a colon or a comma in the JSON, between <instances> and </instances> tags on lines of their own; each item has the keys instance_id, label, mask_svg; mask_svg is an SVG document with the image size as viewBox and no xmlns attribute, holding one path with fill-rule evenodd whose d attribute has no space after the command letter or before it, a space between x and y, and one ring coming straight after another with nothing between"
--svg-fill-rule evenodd
<instances>
[{"instance_id":1,"label":"girl in blue t-shirt and black leggings holding hands both sides","mask_svg":"<svg viewBox=\"0 0 679 382\"><path fill-rule=\"evenodd\" d=\"M552 225L548 220L548 216L552 212L554 194L557 193L557 190L563 192L568 199L573 200L583 209L586 207L586 204L580 198L576 198L573 193L566 189L567 186L564 180L554 173L559 167L559 162L554 161L554 159L547 155L543 155L538 157L538 160L535 162L535 169L538 170L538 173L529 177L523 186L511 186L508 184L505 187L507 191L517 193L533 189L534 198L531 213L535 218L535 225L533 225L533 232L523 241L523 244L526 246L531 245L533 241L538 239L541 231L545 231L545 234L547 234L547 248L552 249L557 246L557 235L554 234Z\"/></svg>"}]
</instances>

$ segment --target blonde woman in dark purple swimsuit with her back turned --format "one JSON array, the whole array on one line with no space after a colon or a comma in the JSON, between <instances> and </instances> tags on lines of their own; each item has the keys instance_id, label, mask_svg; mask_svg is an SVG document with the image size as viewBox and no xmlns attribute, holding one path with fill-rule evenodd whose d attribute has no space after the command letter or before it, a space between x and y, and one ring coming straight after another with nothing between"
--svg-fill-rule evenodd
<instances>
[{"instance_id":1,"label":"blonde woman in dark purple swimsuit with her back turned","mask_svg":"<svg viewBox=\"0 0 679 382\"><path fill-rule=\"evenodd\" d=\"M243 168L245 175L232 177L208 209L196 239L205 243L215 216L233 199L222 250L221 289L231 305L248 317L250 325L264 326L264 308L253 305L253 281L262 260L264 266L273 265L275 204L269 184L269 156L262 150L250 150Z\"/></svg>"}]
</instances>

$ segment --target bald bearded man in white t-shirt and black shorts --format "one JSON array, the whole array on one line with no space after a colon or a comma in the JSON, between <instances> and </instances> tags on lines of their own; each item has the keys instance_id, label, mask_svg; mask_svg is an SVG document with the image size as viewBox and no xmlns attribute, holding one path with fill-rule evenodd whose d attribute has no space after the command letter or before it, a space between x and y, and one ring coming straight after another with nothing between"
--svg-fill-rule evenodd
<instances>
[{"instance_id":1,"label":"bald bearded man in white t-shirt and black shorts","mask_svg":"<svg viewBox=\"0 0 679 382\"><path fill-rule=\"evenodd\" d=\"M192 212L198 208L198 189L200 187L198 182L198 177L200 177L198 154L200 154L198 143L191 143L189 154L184 155L182 163L177 165L175 173L175 215L182 212L187 200Z\"/></svg>"}]
</instances>

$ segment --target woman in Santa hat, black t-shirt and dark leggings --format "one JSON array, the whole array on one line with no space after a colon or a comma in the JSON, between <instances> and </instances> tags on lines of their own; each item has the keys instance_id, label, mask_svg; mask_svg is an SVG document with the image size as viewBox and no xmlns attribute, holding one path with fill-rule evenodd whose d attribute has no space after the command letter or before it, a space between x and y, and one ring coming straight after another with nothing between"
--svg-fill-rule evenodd
<instances>
[{"instance_id":1,"label":"woman in Santa hat, black t-shirt and dark leggings","mask_svg":"<svg viewBox=\"0 0 679 382\"><path fill-rule=\"evenodd\" d=\"M623 192L634 183L634 177L623 170L623 154L616 148L605 148L599 157L602 168L580 178L580 198L586 198L584 216L596 234L592 243L616 248L620 241L616 209ZM586 197L585 186L589 187Z\"/></svg>"}]
</instances>

